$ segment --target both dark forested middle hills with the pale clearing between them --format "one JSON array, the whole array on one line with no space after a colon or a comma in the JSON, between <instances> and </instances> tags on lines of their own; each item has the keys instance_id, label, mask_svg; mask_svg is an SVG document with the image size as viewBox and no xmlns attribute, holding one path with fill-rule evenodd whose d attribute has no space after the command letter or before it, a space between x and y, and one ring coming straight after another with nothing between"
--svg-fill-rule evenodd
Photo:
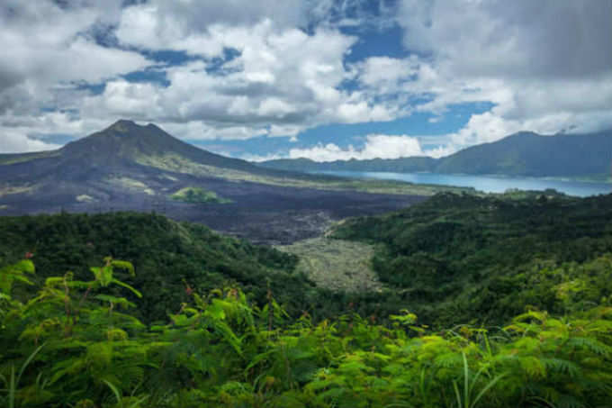
<instances>
[{"instance_id":1,"label":"both dark forested middle hills with the pale clearing between them","mask_svg":"<svg viewBox=\"0 0 612 408\"><path fill-rule=\"evenodd\" d=\"M612 287L598 280L607 269L590 262L612 253L611 200L441 194L400 212L341 222L331 234L338 245L302 240L285 253L155 214L0 217L0 260L33 252L39 277L58 270L83 277L85 266L106 256L129 260L139 271L129 282L151 292L150 303L139 304L147 319L180 304L185 283L205 291L234 282L261 304L269 282L292 315L308 310L322 318L352 304L379 319L409 307L435 327L501 324L527 305L563 313L552 288L586 271L596 279L595 294L608 296Z\"/></svg>"}]
</instances>

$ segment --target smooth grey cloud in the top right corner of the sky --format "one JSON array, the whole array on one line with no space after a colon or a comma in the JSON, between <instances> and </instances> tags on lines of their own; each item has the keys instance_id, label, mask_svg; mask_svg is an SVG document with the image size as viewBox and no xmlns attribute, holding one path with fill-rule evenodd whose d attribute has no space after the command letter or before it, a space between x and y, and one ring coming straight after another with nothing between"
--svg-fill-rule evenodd
<instances>
[{"instance_id":1,"label":"smooth grey cloud in the top right corner of the sky","mask_svg":"<svg viewBox=\"0 0 612 408\"><path fill-rule=\"evenodd\" d=\"M455 75L585 77L609 73L612 2L402 0L408 49Z\"/></svg>"}]
</instances>

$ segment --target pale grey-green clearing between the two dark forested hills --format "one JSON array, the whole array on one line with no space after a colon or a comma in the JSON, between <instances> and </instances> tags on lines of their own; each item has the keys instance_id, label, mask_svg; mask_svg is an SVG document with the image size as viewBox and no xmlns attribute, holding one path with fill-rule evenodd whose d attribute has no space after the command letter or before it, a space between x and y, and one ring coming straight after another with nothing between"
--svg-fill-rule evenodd
<instances>
[{"instance_id":1,"label":"pale grey-green clearing between the two dark forested hills","mask_svg":"<svg viewBox=\"0 0 612 408\"><path fill-rule=\"evenodd\" d=\"M346 292L378 291L382 287L371 266L371 245L320 237L276 248L300 258L296 270L317 286Z\"/></svg>"}]
</instances>

